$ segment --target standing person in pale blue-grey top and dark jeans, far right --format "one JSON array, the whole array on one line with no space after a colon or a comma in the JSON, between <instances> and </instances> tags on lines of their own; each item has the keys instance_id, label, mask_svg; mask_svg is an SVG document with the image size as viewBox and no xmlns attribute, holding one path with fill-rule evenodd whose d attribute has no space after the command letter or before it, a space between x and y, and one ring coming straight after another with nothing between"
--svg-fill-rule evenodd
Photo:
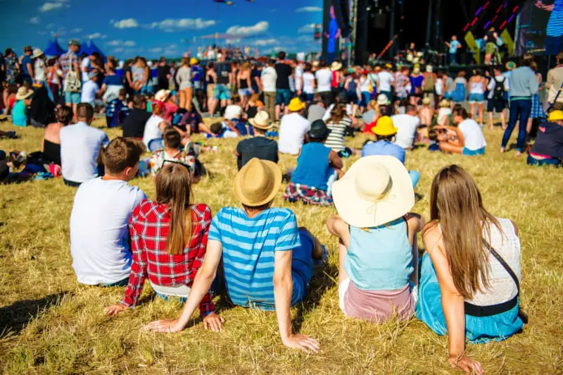
<instances>
[{"instance_id":1,"label":"standing person in pale blue-grey top and dark jeans, far right","mask_svg":"<svg viewBox=\"0 0 563 375\"><path fill-rule=\"evenodd\" d=\"M502 136L500 152L505 152L517 121L519 121L519 128L516 154L520 156L524 152L526 125L532 109L532 96L538 92L536 73L530 68L532 63L533 54L526 52L521 58L520 66L512 70L510 75L510 118L505 134Z\"/></svg>"}]
</instances>

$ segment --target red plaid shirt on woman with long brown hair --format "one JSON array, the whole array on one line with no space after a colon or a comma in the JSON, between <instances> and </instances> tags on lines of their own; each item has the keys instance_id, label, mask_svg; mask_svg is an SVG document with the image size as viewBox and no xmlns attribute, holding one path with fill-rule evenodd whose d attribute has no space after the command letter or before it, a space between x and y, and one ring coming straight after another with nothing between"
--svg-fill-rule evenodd
<instances>
[{"instance_id":1,"label":"red plaid shirt on woman with long brown hair","mask_svg":"<svg viewBox=\"0 0 563 375\"><path fill-rule=\"evenodd\" d=\"M143 291L148 277L156 285L191 285L196 273L203 264L207 238L211 224L211 210L206 204L191 207L192 234L189 246L182 254L168 254L166 251L170 231L170 209L145 199L133 210L129 221L129 233L133 251L133 264L129 285L125 290L123 305L134 307ZM201 316L213 312L211 293L203 297L199 304Z\"/></svg>"}]
</instances>

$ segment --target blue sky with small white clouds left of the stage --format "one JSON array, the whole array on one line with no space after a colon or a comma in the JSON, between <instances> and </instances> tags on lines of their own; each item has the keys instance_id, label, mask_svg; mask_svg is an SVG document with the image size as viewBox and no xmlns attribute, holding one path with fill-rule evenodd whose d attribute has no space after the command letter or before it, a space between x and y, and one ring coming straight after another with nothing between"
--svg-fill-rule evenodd
<instances>
[{"instance_id":1,"label":"blue sky with small white clouds left of the stage","mask_svg":"<svg viewBox=\"0 0 563 375\"><path fill-rule=\"evenodd\" d=\"M322 23L322 0L232 1L0 0L0 48L18 54L26 44L44 49L57 34L63 48L70 38L93 39L105 54L120 58L177 57L213 44L202 37L220 33L260 54L320 49L312 35L315 23Z\"/></svg>"}]
</instances>

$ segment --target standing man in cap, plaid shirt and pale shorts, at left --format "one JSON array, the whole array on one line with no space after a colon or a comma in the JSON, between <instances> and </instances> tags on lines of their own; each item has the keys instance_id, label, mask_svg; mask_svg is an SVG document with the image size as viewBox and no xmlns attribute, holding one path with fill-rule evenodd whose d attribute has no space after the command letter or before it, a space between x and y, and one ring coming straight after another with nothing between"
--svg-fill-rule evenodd
<instances>
[{"instance_id":1,"label":"standing man in cap, plaid shirt and pale shorts, at left","mask_svg":"<svg viewBox=\"0 0 563 375\"><path fill-rule=\"evenodd\" d=\"M63 70L65 92L65 104L72 107L72 113L78 113L77 106L80 103L80 66L78 65L77 53L80 51L80 42L76 39L68 41L68 51L58 59L61 70Z\"/></svg>"}]
</instances>

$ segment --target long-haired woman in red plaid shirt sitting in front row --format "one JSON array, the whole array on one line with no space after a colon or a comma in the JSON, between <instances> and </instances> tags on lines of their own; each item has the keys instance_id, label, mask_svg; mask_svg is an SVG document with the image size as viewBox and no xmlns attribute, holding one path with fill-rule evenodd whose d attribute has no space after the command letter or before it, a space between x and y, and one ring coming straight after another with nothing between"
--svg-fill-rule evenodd
<instances>
[{"instance_id":1,"label":"long-haired woman in red plaid shirt sitting in front row","mask_svg":"<svg viewBox=\"0 0 563 375\"><path fill-rule=\"evenodd\" d=\"M165 300L195 297L194 309L199 305L205 328L218 331L223 319L215 314L211 283L202 290L201 283L198 288L195 282L203 259L209 257L211 209L207 204L191 204L190 171L185 164L166 161L155 182L156 199L145 199L135 207L129 223L133 264L125 295L104 312L111 316L134 308L148 278L156 295Z\"/></svg>"}]
</instances>

